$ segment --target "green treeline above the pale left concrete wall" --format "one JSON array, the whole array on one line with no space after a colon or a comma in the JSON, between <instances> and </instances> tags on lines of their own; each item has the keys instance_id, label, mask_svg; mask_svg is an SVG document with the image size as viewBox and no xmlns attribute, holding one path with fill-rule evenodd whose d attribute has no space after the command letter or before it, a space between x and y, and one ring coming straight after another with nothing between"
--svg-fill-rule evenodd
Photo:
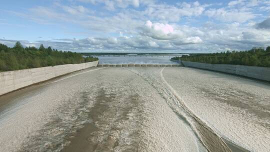
<instances>
[{"instance_id":1,"label":"green treeline above the pale left concrete wall","mask_svg":"<svg viewBox=\"0 0 270 152\"><path fill-rule=\"evenodd\" d=\"M25 68L54 66L60 64L76 64L98 60L96 57L82 57L80 53L45 48L25 47L16 42L14 47L0 44L0 71Z\"/></svg>"}]
</instances>

